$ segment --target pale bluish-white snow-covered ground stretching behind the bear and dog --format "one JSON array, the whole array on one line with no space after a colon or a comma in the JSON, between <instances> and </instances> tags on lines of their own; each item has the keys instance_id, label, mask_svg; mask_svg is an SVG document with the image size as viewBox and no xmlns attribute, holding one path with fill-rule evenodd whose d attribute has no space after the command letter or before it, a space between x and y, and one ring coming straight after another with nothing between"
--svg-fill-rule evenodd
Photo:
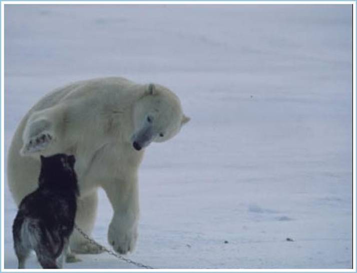
<instances>
[{"instance_id":1,"label":"pale bluish-white snow-covered ground stretching behind the bear and dog","mask_svg":"<svg viewBox=\"0 0 357 273\"><path fill-rule=\"evenodd\" d=\"M127 257L158 268L352 266L351 5L5 12L6 151L29 107L76 80L160 83L192 118L147 148ZM100 197L93 236L108 246L111 208ZM15 268L7 185L5 213L5 267ZM65 268L135 268L80 257ZM39 268L35 256L28 265Z\"/></svg>"}]
</instances>

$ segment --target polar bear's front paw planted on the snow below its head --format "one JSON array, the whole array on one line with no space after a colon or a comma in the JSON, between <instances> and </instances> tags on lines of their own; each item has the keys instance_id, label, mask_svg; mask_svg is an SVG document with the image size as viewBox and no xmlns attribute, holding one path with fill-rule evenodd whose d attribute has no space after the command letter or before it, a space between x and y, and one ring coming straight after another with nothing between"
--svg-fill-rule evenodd
<instances>
[{"instance_id":1,"label":"polar bear's front paw planted on the snow below its head","mask_svg":"<svg viewBox=\"0 0 357 273\"><path fill-rule=\"evenodd\" d=\"M111 224L108 231L108 241L114 250L120 254L132 252L135 248L138 233L136 228L123 232L120 228Z\"/></svg>"}]
</instances>

